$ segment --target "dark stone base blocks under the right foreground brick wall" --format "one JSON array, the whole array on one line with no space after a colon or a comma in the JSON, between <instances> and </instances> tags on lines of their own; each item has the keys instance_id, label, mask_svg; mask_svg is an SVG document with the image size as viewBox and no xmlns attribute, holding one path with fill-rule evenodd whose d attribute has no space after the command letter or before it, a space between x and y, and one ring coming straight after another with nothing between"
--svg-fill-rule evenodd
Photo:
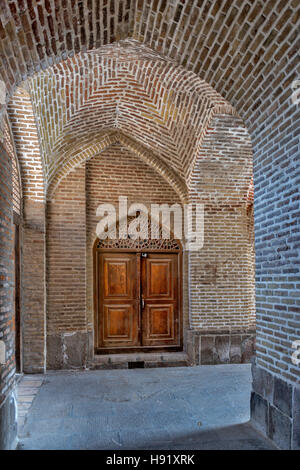
<instances>
[{"instance_id":1,"label":"dark stone base blocks under the right foreground brick wall","mask_svg":"<svg viewBox=\"0 0 300 470\"><path fill-rule=\"evenodd\" d=\"M300 387L252 364L251 422L277 447L300 449Z\"/></svg>"}]
</instances>

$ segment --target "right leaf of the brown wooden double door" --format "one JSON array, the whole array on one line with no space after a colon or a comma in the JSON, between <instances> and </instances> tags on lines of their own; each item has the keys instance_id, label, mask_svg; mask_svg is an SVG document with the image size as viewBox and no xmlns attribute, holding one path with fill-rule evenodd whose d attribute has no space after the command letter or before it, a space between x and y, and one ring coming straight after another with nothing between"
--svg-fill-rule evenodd
<instances>
[{"instance_id":1,"label":"right leaf of the brown wooden double door","mask_svg":"<svg viewBox=\"0 0 300 470\"><path fill-rule=\"evenodd\" d=\"M178 256L142 258L142 344L179 346Z\"/></svg>"}]
</instances>

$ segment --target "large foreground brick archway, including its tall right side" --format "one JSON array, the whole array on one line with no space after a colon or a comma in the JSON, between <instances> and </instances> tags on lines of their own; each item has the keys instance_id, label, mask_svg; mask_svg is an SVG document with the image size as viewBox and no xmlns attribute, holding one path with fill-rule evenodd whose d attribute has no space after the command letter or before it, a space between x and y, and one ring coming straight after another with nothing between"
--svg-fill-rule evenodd
<instances>
[{"instance_id":1,"label":"large foreground brick archway, including its tall right side","mask_svg":"<svg viewBox=\"0 0 300 470\"><path fill-rule=\"evenodd\" d=\"M294 240L298 217L295 155L299 152L299 112L298 104L292 101L292 83L299 74L298 4L292 0L285 3L268 0L263 4L245 1L242 5L120 1L119 6L117 11L115 3L109 1L100 12L96 1L70 2L68 8L56 9L51 2L42 5L35 0L27 5L16 0L3 3L0 74L7 99L22 80L41 68L49 69L56 62L62 64L74 53L102 46L110 48L116 41L125 41L125 49L134 53L137 46L143 59L149 59L150 55L159 57L193 72L234 106L245 120L254 148L256 306L260 331L253 417L259 421L256 410L263 409L267 423L263 426L267 427L262 430L280 445L283 442L285 447L295 447L298 444L291 415L296 411L291 409L287 414L286 406L270 399L260 384L265 381L277 387L275 390L282 386L294 395L298 393L299 370L290 358L294 352L294 329L299 322L297 307L290 303L288 287L291 279L296 282L299 261ZM117 53L122 56L122 52ZM4 111L1 105L2 116ZM10 187L7 158L2 148L1 167ZM1 239L9 252L7 227L12 201L3 187L1 195L4 214L1 223L5 228ZM274 250L268 249L270 240L274 242ZM6 271L3 276L7 278ZM271 291L268 279L272 280ZM4 302L1 308L10 309L9 282L1 287L1 292L1 302ZM292 331L291 317L296 325ZM267 326L272 325L270 329L266 328L266 318L271 320L267 322ZM3 365L4 371L9 367L8 360ZM1 394L9 390L3 392L3 399L10 393L9 387L8 379L1 384ZM288 431L283 441L280 431L277 434L273 430L270 434L271 415L278 418L273 423L284 420L286 424Z\"/></svg>"}]
</instances>

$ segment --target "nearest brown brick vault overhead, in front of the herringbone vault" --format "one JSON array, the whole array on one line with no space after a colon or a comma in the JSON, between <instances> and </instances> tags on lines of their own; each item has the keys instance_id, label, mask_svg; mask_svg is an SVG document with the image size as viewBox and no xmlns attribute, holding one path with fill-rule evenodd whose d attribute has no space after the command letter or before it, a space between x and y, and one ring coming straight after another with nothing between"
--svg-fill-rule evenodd
<instances>
[{"instance_id":1,"label":"nearest brown brick vault overhead, in front of the herringbone vault","mask_svg":"<svg viewBox=\"0 0 300 470\"><path fill-rule=\"evenodd\" d=\"M11 90L74 52L132 37L246 110L250 91L297 55L299 10L298 0L7 0L1 75Z\"/></svg>"}]
</instances>

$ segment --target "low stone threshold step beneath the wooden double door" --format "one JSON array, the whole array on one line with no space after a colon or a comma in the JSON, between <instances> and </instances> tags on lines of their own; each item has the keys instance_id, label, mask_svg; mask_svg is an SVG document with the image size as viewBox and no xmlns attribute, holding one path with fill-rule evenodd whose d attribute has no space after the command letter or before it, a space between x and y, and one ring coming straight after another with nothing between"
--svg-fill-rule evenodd
<instances>
[{"instance_id":1,"label":"low stone threshold step beneath the wooden double door","mask_svg":"<svg viewBox=\"0 0 300 470\"><path fill-rule=\"evenodd\" d=\"M153 367L186 367L190 362L185 352L99 354L88 364L90 370L146 369Z\"/></svg>"}]
</instances>

